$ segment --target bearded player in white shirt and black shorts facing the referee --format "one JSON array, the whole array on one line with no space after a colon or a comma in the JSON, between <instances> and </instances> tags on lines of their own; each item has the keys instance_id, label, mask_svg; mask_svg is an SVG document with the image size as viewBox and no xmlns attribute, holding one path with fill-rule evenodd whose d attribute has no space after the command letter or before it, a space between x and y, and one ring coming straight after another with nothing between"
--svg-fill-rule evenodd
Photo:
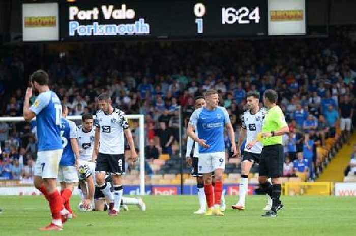
<instances>
[{"instance_id":1,"label":"bearded player in white shirt and black shorts facing the referee","mask_svg":"<svg viewBox=\"0 0 356 236\"><path fill-rule=\"evenodd\" d=\"M245 198L248 191L248 177L251 171L253 163L258 164L260 159L260 154L262 151L262 144L257 142L251 149L248 149L246 142L251 142L257 138L257 134L261 132L262 122L266 114L265 109L259 107L260 94L258 92L250 91L246 95L246 105L247 111L242 115L242 126L238 141L238 155L241 157L241 178L239 186L239 201L238 203L232 205L232 209L245 210ZM243 153L241 153L240 148L242 142L245 140ZM269 197L268 206L266 208L271 209L272 199Z\"/></svg>"}]
</instances>

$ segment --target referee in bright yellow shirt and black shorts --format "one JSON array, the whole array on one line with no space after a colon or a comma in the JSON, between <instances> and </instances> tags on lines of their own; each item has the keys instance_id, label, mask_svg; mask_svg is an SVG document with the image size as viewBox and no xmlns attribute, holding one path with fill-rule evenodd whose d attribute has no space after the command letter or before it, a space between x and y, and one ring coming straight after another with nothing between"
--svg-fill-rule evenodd
<instances>
[{"instance_id":1,"label":"referee in bright yellow shirt and black shorts","mask_svg":"<svg viewBox=\"0 0 356 236\"><path fill-rule=\"evenodd\" d=\"M248 148L252 148L259 139L263 144L258 182L273 200L271 210L263 214L264 217L276 217L277 211L283 208L283 204L279 200L281 195L280 176L283 175L284 162L282 136L289 132L289 128L281 108L277 106L277 98L277 92L274 90L268 89L264 92L263 103L268 112L263 120L262 133L259 138L248 144ZM269 177L272 178L272 185L267 181Z\"/></svg>"}]
</instances>

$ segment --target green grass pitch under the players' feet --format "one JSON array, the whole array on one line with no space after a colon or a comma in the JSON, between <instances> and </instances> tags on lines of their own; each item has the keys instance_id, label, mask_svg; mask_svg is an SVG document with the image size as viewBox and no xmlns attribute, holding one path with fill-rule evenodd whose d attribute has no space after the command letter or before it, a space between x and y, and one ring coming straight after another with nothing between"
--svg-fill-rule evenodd
<instances>
[{"instance_id":1,"label":"green grass pitch under the players' feet","mask_svg":"<svg viewBox=\"0 0 356 236\"><path fill-rule=\"evenodd\" d=\"M193 215L196 196L144 196L147 211L130 205L117 217L106 212L78 212L79 197L71 200L78 215L60 232L41 232L50 222L42 196L0 196L0 235L356 235L356 197L282 196L284 210L276 218L262 218L265 196L248 196L246 210L230 209L236 196L227 196L224 217Z\"/></svg>"}]
</instances>

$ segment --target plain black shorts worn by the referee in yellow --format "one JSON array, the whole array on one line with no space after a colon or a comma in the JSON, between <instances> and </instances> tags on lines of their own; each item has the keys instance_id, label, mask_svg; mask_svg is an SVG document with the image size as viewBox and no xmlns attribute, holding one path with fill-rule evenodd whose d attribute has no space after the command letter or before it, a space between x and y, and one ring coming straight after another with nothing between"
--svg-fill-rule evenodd
<instances>
[{"instance_id":1,"label":"plain black shorts worn by the referee in yellow","mask_svg":"<svg viewBox=\"0 0 356 236\"><path fill-rule=\"evenodd\" d=\"M283 176L284 153L281 144L264 146L259 160L259 176Z\"/></svg>"}]
</instances>

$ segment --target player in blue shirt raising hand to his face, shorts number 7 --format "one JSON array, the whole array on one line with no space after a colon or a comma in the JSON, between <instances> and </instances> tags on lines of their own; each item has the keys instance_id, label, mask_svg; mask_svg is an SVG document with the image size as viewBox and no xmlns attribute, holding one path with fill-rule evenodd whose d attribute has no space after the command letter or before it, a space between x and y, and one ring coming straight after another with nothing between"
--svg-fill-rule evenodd
<instances>
[{"instance_id":1,"label":"player in blue shirt raising hand to his face, shorts number 7","mask_svg":"<svg viewBox=\"0 0 356 236\"><path fill-rule=\"evenodd\" d=\"M62 156L62 141L60 137L60 124L62 107L57 95L49 90L48 74L43 70L35 71L30 77L31 87L27 88L23 117L31 121L37 119L37 160L34 171L34 185L46 199L52 213L52 223L40 230L62 230L62 219L68 217L62 198L57 190L57 176L60 159ZM32 88L40 95L34 104L29 106L32 97Z\"/></svg>"}]
</instances>

